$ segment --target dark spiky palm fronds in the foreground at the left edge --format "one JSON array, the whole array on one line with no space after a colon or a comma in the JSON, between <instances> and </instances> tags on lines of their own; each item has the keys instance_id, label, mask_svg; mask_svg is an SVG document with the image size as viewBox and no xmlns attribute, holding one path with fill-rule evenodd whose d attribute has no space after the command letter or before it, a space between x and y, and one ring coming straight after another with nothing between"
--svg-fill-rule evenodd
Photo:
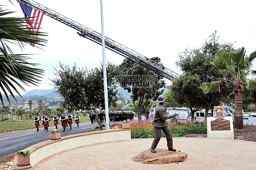
<instances>
[{"instance_id":1,"label":"dark spiky palm fronds in the foreground at the left edge","mask_svg":"<svg viewBox=\"0 0 256 170\"><path fill-rule=\"evenodd\" d=\"M37 85L41 81L44 70L36 68L38 64L29 63L27 60L30 57L14 54L8 44L17 44L24 49L25 45L30 43L43 46L42 43L46 42L45 39L37 37L45 36L43 33L27 30L25 18L6 17L12 13L14 12L6 12L0 8L0 94L4 93L9 104L11 102L8 92L14 99L13 90L22 97L15 86L26 91L24 84ZM2 95L0 99L4 105Z\"/></svg>"}]
</instances>

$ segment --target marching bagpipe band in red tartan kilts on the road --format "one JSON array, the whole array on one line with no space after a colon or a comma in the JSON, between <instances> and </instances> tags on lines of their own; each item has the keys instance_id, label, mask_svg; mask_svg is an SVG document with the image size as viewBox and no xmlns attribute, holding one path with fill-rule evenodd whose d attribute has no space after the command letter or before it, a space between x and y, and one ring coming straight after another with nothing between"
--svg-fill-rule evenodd
<instances>
[{"instance_id":1,"label":"marching bagpipe band in red tartan kilts on the road","mask_svg":"<svg viewBox=\"0 0 256 170\"><path fill-rule=\"evenodd\" d=\"M74 117L71 115L71 113L69 113L69 114L62 113L59 118L58 118L57 114L54 114L52 120L54 121L54 125L55 125L56 129L58 129L58 124L59 124L59 120L60 120L61 126L63 127L63 131L66 131L66 128L68 126L70 127L70 130L72 129L72 124L73 124L72 119L75 120L77 127L79 127L80 116L78 113L76 113L76 116L74 116ZM51 121L51 119L48 117L48 114L43 113L41 118L38 116L38 114L35 115L34 122L35 122L35 128L37 128L37 132L39 131L39 127L40 127L39 121L40 120L42 120L42 125L44 126L44 130L48 131L48 127L50 126L49 121Z\"/></svg>"}]
</instances>

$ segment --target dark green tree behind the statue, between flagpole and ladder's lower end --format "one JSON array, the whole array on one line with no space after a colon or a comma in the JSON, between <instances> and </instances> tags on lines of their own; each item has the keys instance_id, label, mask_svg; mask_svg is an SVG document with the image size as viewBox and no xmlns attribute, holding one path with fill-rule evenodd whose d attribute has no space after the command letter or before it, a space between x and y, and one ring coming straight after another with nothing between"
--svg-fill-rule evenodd
<instances>
[{"instance_id":1,"label":"dark green tree behind the statue, between flagpole and ladder's lower end","mask_svg":"<svg viewBox=\"0 0 256 170\"><path fill-rule=\"evenodd\" d=\"M159 57L152 57L151 60L162 65ZM138 63L128 59L123 60L123 63L119 65L119 69L122 72L122 76L117 81L125 90L132 92L133 105L140 120L142 109L150 104L148 100L156 100L160 94L159 89L165 86L165 81L160 74L141 67ZM135 104L135 101L138 101L138 105Z\"/></svg>"}]
</instances>

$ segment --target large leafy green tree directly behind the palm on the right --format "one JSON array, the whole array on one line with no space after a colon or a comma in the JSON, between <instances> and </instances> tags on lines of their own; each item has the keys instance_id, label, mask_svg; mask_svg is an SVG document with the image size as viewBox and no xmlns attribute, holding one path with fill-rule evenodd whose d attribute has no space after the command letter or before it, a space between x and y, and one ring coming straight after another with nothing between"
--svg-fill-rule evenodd
<instances>
[{"instance_id":1,"label":"large leafy green tree directly behind the palm on the right","mask_svg":"<svg viewBox=\"0 0 256 170\"><path fill-rule=\"evenodd\" d=\"M205 113L208 113L213 105L230 102L231 78L218 74L218 69L213 67L211 62L215 60L217 52L227 51L232 46L231 43L220 42L215 31L210 35L210 39L205 40L202 47L185 49L180 53L176 64L181 68L183 74L171 85L173 98L177 99L182 106L189 107L192 113L196 112L198 107L205 108ZM205 94L202 89L203 83L212 81L224 84L223 91L211 91Z\"/></svg>"}]
</instances>

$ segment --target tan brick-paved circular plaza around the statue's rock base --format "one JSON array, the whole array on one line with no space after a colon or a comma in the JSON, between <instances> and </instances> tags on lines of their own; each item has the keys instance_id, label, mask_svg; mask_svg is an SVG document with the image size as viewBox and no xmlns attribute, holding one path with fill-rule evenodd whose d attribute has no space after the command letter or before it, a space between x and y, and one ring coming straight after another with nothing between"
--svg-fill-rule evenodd
<instances>
[{"instance_id":1,"label":"tan brick-paved circular plaza around the statue's rock base","mask_svg":"<svg viewBox=\"0 0 256 170\"><path fill-rule=\"evenodd\" d=\"M52 155L32 170L252 170L256 169L256 142L215 138L173 138L174 148L187 153L184 162L154 165L132 161L148 150L153 138L98 143ZM72 143L67 143L72 145ZM157 149L165 148L161 138ZM153 154L153 153L152 153Z\"/></svg>"}]
</instances>

